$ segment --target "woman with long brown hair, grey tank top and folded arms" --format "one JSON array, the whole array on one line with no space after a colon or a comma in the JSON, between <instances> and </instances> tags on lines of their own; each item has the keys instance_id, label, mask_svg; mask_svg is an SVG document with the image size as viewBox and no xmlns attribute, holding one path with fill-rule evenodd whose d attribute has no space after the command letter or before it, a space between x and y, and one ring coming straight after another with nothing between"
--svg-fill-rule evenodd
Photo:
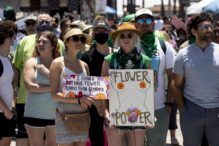
<instances>
[{"instance_id":1,"label":"woman with long brown hair, grey tank top and folded arms","mask_svg":"<svg viewBox=\"0 0 219 146\"><path fill-rule=\"evenodd\" d=\"M50 94L49 68L52 60L60 55L55 34L44 31L37 35L33 57L24 66L24 83L28 91L24 122L31 146L56 145L54 125L57 104Z\"/></svg>"}]
</instances>

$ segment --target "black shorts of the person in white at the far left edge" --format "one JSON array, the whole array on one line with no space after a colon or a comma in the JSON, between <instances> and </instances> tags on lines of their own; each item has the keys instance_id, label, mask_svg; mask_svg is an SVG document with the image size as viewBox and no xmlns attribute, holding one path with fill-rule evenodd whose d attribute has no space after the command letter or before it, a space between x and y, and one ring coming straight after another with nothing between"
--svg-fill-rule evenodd
<instances>
[{"instance_id":1,"label":"black shorts of the person in white at the far left edge","mask_svg":"<svg viewBox=\"0 0 219 146\"><path fill-rule=\"evenodd\" d=\"M4 113L0 113L0 139L2 137L15 136L16 121L14 119L8 120Z\"/></svg>"}]
</instances>

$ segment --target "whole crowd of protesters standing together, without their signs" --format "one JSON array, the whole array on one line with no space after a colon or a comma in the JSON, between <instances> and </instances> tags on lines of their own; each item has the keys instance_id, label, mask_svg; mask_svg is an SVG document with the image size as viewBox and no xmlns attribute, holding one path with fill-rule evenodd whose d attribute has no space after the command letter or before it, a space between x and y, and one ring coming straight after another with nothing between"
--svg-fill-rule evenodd
<instances>
[{"instance_id":1,"label":"whole crowd of protesters standing together, without their signs","mask_svg":"<svg viewBox=\"0 0 219 146\"><path fill-rule=\"evenodd\" d=\"M177 108L184 146L219 145L219 22L209 14L186 25L141 8L114 28L102 15L86 24L40 13L26 17L25 31L12 18L0 21L0 146L12 137L17 146L165 146L168 129L179 145ZM108 100L62 94L66 77L110 69L153 70L153 128L115 126ZM86 116L90 127L71 132L66 113Z\"/></svg>"}]
</instances>

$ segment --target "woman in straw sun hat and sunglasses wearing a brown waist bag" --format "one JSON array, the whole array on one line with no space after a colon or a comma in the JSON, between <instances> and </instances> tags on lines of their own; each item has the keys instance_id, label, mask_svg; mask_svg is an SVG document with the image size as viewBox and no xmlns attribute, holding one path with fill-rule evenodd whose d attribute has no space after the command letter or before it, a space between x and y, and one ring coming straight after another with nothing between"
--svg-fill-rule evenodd
<instances>
[{"instance_id":1,"label":"woman in straw sun hat and sunglasses wearing a brown waist bag","mask_svg":"<svg viewBox=\"0 0 219 146\"><path fill-rule=\"evenodd\" d=\"M56 142L60 146L85 146L85 141L88 137L88 130L79 134L71 133L64 124L63 115L65 113L82 114L88 112L87 108L92 105L93 101L87 96L68 98L64 95L63 97L62 84L65 83L67 77L89 75L87 64L77 59L77 53L89 39L89 35L82 33L79 28L67 30L64 35L64 42L67 47L66 54L64 57L55 59L50 68L51 95L58 102L56 113Z\"/></svg>"}]
</instances>

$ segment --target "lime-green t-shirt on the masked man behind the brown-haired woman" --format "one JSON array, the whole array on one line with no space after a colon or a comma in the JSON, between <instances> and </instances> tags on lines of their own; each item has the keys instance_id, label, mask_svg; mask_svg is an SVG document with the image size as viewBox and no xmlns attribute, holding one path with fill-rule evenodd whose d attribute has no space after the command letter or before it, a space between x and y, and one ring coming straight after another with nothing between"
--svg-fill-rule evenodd
<instances>
[{"instance_id":1,"label":"lime-green t-shirt on the masked man behind the brown-haired woman","mask_svg":"<svg viewBox=\"0 0 219 146\"><path fill-rule=\"evenodd\" d=\"M18 98L17 103L24 104L27 98L27 91L24 85L24 78L23 78L23 69L25 62L32 57L34 48L35 48L35 41L36 41L36 34L29 35L24 37L18 44L14 58L13 58L13 65L20 71L20 84L18 90ZM65 45L64 43L59 40L61 52L64 52Z\"/></svg>"}]
</instances>

